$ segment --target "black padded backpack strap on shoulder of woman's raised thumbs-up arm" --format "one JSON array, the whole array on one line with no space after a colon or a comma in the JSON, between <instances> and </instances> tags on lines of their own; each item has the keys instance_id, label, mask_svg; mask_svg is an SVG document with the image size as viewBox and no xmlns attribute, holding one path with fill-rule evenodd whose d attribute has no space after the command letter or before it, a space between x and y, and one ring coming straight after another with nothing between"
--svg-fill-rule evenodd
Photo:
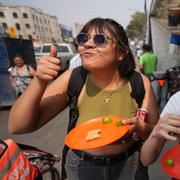
<instances>
[{"instance_id":1,"label":"black padded backpack strap on shoulder of woman's raised thumbs-up arm","mask_svg":"<svg viewBox=\"0 0 180 180\"><path fill-rule=\"evenodd\" d=\"M68 97L71 98L73 96L78 97L81 89L85 83L87 70L85 70L82 66L79 66L73 69L72 74L69 79L68 85Z\"/></svg>"}]
</instances>

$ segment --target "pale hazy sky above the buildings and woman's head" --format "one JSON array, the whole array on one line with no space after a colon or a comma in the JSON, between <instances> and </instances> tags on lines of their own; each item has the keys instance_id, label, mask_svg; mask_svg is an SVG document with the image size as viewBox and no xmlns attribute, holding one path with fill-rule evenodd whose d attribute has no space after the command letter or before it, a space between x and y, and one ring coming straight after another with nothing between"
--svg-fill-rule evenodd
<instances>
[{"instance_id":1,"label":"pale hazy sky above the buildings and woman's head","mask_svg":"<svg viewBox=\"0 0 180 180\"><path fill-rule=\"evenodd\" d=\"M131 15L144 11L145 0L0 0L6 5L28 5L58 17L59 23L74 29L94 17L112 18L126 28ZM151 0L146 0L147 6Z\"/></svg>"}]
</instances>

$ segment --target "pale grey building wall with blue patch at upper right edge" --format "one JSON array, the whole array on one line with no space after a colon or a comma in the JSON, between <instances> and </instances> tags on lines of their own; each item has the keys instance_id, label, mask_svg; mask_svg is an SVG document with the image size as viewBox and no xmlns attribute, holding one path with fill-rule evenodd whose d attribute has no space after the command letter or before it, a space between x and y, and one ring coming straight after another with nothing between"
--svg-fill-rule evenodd
<instances>
[{"instance_id":1,"label":"pale grey building wall with blue patch at upper right edge","mask_svg":"<svg viewBox=\"0 0 180 180\"><path fill-rule=\"evenodd\" d=\"M158 70L180 66L180 1L152 0L146 41L158 56Z\"/></svg>"}]
</instances>

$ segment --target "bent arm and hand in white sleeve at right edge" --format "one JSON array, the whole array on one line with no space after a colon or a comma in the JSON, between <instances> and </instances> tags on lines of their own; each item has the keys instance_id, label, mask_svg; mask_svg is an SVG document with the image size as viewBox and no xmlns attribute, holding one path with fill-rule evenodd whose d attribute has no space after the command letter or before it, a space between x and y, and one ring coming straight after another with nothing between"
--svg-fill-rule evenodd
<instances>
[{"instance_id":1,"label":"bent arm and hand in white sleeve at right edge","mask_svg":"<svg viewBox=\"0 0 180 180\"><path fill-rule=\"evenodd\" d=\"M171 96L160 117L141 149L145 166L157 160L167 140L180 141L180 91Z\"/></svg>"}]
</instances>

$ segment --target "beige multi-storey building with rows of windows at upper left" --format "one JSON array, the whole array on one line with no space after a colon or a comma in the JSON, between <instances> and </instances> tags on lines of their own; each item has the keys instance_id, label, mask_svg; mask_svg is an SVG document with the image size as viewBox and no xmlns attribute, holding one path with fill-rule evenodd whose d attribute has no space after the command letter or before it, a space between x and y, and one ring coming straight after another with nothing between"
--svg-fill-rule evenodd
<instances>
[{"instance_id":1,"label":"beige multi-storey building with rows of windows at upper left","mask_svg":"<svg viewBox=\"0 0 180 180\"><path fill-rule=\"evenodd\" d=\"M3 36L33 39L37 42L61 42L61 30L56 16L29 6L0 4L0 28Z\"/></svg>"}]
</instances>

